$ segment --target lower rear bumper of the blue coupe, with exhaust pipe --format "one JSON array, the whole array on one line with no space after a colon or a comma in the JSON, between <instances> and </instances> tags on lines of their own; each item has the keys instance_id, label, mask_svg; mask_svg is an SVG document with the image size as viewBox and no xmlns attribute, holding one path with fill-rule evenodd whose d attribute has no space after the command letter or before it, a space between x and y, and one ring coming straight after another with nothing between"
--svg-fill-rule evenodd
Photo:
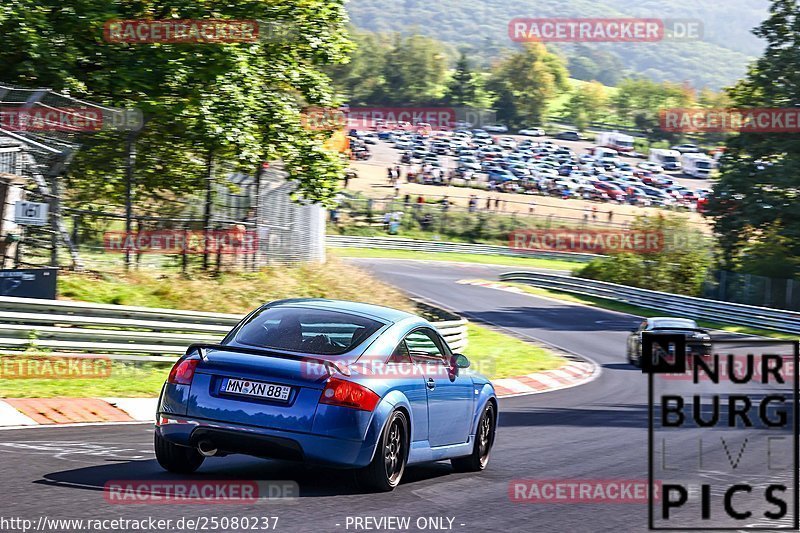
<instances>
[{"instance_id":1,"label":"lower rear bumper of the blue coupe, with exhaust pipe","mask_svg":"<svg viewBox=\"0 0 800 533\"><path fill-rule=\"evenodd\" d=\"M200 418L159 413L156 432L169 442L197 446L210 440L220 452L241 453L269 459L358 468L367 466L375 442L349 440L295 431L258 428Z\"/></svg>"}]
</instances>

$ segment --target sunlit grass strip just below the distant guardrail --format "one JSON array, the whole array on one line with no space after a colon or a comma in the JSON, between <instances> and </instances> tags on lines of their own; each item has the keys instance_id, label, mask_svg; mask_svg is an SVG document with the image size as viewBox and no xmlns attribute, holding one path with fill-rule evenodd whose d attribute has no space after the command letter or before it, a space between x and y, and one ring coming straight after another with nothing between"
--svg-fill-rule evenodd
<instances>
[{"instance_id":1,"label":"sunlit grass strip just below the distant guardrail","mask_svg":"<svg viewBox=\"0 0 800 533\"><path fill-rule=\"evenodd\" d=\"M379 248L328 248L336 257L376 257L389 259L424 259L427 261L456 261L462 263L483 263L487 265L507 265L549 270L568 270L585 265L577 261L561 259L539 259L534 257L514 257L502 255L478 255L456 252L416 252L409 250L384 250Z\"/></svg>"}]
</instances>

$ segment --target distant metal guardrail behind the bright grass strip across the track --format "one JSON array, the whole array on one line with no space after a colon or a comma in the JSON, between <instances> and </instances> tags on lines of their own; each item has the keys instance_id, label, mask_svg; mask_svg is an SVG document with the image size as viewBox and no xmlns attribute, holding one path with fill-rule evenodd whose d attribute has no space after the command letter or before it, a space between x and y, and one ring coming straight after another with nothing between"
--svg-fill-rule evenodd
<instances>
[{"instance_id":1,"label":"distant metal guardrail behind the bright grass strip across the track","mask_svg":"<svg viewBox=\"0 0 800 533\"><path fill-rule=\"evenodd\" d=\"M539 259L566 259L588 263L604 257L595 254L574 252L520 252L509 246L494 244L471 244L446 241L419 241L392 237L356 237L350 235L328 235L326 244L333 248L383 248L388 250L411 250L414 252L451 252L478 255L506 255L513 257L535 257Z\"/></svg>"}]
</instances>

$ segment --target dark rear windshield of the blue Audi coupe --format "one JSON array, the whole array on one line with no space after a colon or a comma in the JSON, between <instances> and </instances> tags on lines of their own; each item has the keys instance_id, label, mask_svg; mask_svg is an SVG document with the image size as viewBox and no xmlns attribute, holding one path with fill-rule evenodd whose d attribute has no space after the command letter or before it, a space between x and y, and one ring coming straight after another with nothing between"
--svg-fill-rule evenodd
<instances>
[{"instance_id":1,"label":"dark rear windshield of the blue Audi coupe","mask_svg":"<svg viewBox=\"0 0 800 533\"><path fill-rule=\"evenodd\" d=\"M381 326L375 320L338 311L272 307L251 316L234 341L259 348L338 355L358 346Z\"/></svg>"}]
</instances>

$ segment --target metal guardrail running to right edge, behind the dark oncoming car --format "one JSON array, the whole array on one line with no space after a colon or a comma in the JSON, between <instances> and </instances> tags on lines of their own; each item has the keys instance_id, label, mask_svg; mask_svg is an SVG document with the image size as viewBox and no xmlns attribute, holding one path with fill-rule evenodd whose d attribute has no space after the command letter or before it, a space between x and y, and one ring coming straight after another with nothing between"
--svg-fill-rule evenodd
<instances>
[{"instance_id":1,"label":"metal guardrail running to right edge, behind the dark oncoming car","mask_svg":"<svg viewBox=\"0 0 800 533\"><path fill-rule=\"evenodd\" d=\"M516 281L574 294L624 302L710 322L800 334L800 313L753 305L708 300L668 292L639 289L592 279L534 272L508 272L501 281Z\"/></svg>"}]
</instances>

